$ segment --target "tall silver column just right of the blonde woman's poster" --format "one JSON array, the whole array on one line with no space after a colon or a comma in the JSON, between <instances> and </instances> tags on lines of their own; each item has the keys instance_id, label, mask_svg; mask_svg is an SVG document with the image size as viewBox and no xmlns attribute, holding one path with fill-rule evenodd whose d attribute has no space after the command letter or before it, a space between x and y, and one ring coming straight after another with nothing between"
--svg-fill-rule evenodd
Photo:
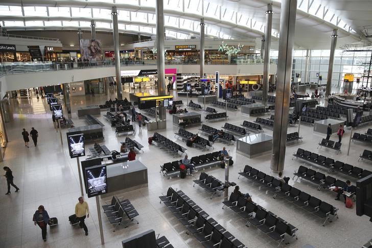
<instances>
[{"instance_id":1,"label":"tall silver column just right of the blonde woman's poster","mask_svg":"<svg viewBox=\"0 0 372 248\"><path fill-rule=\"evenodd\" d=\"M122 77L120 73L120 51L119 51L119 29L118 29L118 10L117 7L113 6L112 11L112 26L113 26L113 46L115 56L115 76L117 82L118 99L123 100L123 85Z\"/></svg>"}]
</instances>

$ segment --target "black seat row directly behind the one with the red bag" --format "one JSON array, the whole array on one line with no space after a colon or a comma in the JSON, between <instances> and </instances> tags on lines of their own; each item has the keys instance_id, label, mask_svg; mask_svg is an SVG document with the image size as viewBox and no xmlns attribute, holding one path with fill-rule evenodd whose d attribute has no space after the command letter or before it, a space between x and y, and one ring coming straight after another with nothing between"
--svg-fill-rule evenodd
<instances>
[{"instance_id":1,"label":"black seat row directly behind the one with the red bag","mask_svg":"<svg viewBox=\"0 0 372 248\"><path fill-rule=\"evenodd\" d=\"M298 148L297 152L293 154L293 156L298 157L307 162L311 162L315 165L319 165L321 167L327 168L328 172L341 172L347 176L351 176L354 178L362 178L369 175L371 172L368 170L363 170L357 166L352 166L350 164L345 164L341 161L335 161L331 157L325 157L322 155L318 155L314 152L306 151L304 149Z\"/></svg>"}]
</instances>

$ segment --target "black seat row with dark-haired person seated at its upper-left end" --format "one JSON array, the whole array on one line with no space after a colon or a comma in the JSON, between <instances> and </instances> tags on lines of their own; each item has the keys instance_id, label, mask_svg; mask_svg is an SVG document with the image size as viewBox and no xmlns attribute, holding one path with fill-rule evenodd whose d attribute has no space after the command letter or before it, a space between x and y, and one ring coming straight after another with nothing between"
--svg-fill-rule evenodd
<instances>
[{"instance_id":1,"label":"black seat row with dark-haired person seated at its upper-left end","mask_svg":"<svg viewBox=\"0 0 372 248\"><path fill-rule=\"evenodd\" d=\"M298 229L296 227L255 202L239 196L237 193L231 193L229 199L223 201L222 204L223 207L227 206L243 219L246 219L247 227L253 224L253 226L259 228L273 240L279 241L278 246L285 240L286 234L297 239L296 231Z\"/></svg>"}]
</instances>

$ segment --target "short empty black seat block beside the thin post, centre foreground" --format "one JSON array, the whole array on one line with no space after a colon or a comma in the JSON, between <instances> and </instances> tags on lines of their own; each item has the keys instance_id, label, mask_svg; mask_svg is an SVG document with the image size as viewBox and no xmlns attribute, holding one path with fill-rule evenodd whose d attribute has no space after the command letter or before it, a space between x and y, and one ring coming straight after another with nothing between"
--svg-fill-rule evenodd
<instances>
[{"instance_id":1,"label":"short empty black seat block beside the thin post, centre foreground","mask_svg":"<svg viewBox=\"0 0 372 248\"><path fill-rule=\"evenodd\" d=\"M228 187L237 185L234 182L228 182L226 185L213 175L208 175L205 172L201 172L199 179L193 180L193 182L194 182L193 187L195 187L195 185L198 185L201 188L203 188L206 192L210 193L211 199L217 192L221 193Z\"/></svg>"}]
</instances>

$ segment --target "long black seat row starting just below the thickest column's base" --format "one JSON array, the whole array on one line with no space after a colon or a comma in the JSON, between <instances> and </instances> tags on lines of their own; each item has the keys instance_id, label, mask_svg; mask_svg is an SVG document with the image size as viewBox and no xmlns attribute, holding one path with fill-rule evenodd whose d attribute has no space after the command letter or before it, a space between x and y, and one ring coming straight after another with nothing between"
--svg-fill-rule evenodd
<instances>
[{"instance_id":1,"label":"long black seat row starting just below the thickest column's base","mask_svg":"<svg viewBox=\"0 0 372 248\"><path fill-rule=\"evenodd\" d=\"M244 177L251 179L253 182L260 184L260 186L268 187L269 191L274 192L273 198L281 196L284 199L292 202L296 206L307 210L315 216L324 219L325 222L331 217L337 217L338 209L328 204L327 202L321 201L318 198L311 196L308 193L300 191L299 189L290 186L289 184L282 183L281 181L273 178L270 175L265 174L255 168L246 165L244 171L239 173Z\"/></svg>"}]
</instances>

